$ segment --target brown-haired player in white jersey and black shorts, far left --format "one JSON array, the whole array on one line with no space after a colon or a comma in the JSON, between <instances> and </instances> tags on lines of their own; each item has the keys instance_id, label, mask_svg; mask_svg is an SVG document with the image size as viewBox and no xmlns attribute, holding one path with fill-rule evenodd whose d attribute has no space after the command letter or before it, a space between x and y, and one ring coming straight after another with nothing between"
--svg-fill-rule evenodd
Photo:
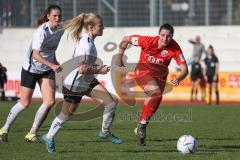
<instances>
[{"instance_id":1,"label":"brown-haired player in white jersey and black shorts, far left","mask_svg":"<svg viewBox=\"0 0 240 160\"><path fill-rule=\"evenodd\" d=\"M61 69L56 60L55 51L64 33L61 22L61 8L50 5L37 21L29 48L26 51L21 72L21 98L7 117L0 129L0 142L8 141L8 132L17 116L30 106L35 85L38 82L43 103L39 107L32 128L25 136L27 142L40 142L37 131L46 119L50 108L55 103L55 74Z\"/></svg>"}]
</instances>

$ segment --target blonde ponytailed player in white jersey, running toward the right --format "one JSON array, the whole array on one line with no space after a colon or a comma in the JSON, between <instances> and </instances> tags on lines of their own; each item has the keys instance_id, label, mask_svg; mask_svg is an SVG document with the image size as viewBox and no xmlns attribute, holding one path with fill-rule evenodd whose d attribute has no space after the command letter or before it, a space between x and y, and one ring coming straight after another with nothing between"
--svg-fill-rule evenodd
<instances>
[{"instance_id":1,"label":"blonde ponytailed player in white jersey, running toward the right","mask_svg":"<svg viewBox=\"0 0 240 160\"><path fill-rule=\"evenodd\" d=\"M83 27L86 33L81 36ZM79 58L79 67L65 78L63 86L64 102L61 113L53 120L48 133L42 137L46 142L47 150L49 153L56 152L54 137L63 124L71 118L84 95L104 105L103 122L99 137L110 140L114 144L121 144L122 140L110 132L117 100L94 77L94 74L107 74L110 70L109 66L96 65L97 50L94 39L103 34L102 18L94 13L82 13L68 21L64 29L65 31L71 31L72 37L78 43L73 59L82 58Z\"/></svg>"}]
</instances>

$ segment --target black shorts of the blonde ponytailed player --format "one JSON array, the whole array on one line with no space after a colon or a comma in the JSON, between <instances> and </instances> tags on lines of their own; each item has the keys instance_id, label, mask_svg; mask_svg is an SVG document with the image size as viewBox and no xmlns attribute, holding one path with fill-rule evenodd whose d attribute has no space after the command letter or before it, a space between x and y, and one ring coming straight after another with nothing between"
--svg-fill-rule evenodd
<instances>
[{"instance_id":1,"label":"black shorts of the blonde ponytailed player","mask_svg":"<svg viewBox=\"0 0 240 160\"><path fill-rule=\"evenodd\" d=\"M99 81L96 78L94 78L91 81L88 89L84 92L73 92L63 86L62 93L64 96L64 100L70 103L80 103L82 100L82 97L84 95L89 95L93 90L93 88L96 87L98 84L99 84Z\"/></svg>"}]
</instances>

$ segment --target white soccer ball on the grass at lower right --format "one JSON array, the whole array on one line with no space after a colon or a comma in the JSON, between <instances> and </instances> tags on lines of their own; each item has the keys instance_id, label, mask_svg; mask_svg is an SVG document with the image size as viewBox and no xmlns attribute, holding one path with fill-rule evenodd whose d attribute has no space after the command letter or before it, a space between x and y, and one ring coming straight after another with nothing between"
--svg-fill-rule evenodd
<instances>
[{"instance_id":1,"label":"white soccer ball on the grass at lower right","mask_svg":"<svg viewBox=\"0 0 240 160\"><path fill-rule=\"evenodd\" d=\"M193 154L197 151L197 140L191 135L183 135L178 139L177 149L181 154Z\"/></svg>"}]
</instances>

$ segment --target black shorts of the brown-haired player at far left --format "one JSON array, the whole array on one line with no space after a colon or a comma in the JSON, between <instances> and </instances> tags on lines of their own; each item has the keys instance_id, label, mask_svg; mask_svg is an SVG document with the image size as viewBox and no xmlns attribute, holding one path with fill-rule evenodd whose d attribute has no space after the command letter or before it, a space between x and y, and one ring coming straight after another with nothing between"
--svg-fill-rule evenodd
<instances>
[{"instance_id":1,"label":"black shorts of the brown-haired player at far left","mask_svg":"<svg viewBox=\"0 0 240 160\"><path fill-rule=\"evenodd\" d=\"M55 72L53 70L46 71L42 74L31 73L22 68L21 72L21 86L35 89L36 83L40 83L42 78L55 80Z\"/></svg>"}]
</instances>

